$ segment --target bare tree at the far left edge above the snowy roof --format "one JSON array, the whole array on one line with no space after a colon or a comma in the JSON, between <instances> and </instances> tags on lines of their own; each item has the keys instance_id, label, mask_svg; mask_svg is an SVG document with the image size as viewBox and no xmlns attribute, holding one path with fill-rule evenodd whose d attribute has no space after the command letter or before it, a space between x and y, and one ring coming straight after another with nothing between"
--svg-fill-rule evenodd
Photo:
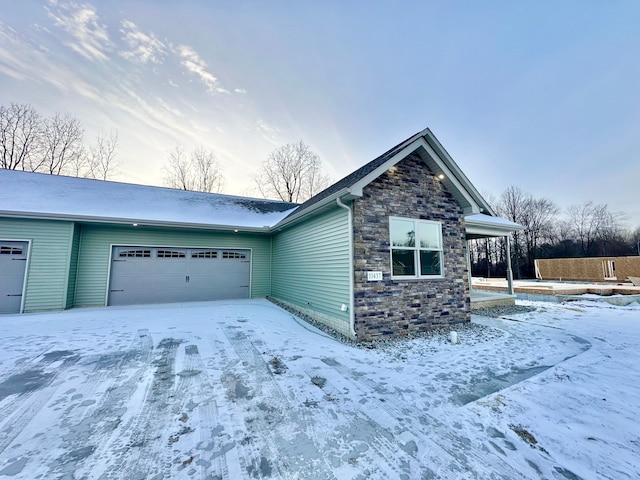
<instances>
[{"instance_id":1,"label":"bare tree at the far left edge above the snowy roof","mask_svg":"<svg viewBox=\"0 0 640 480\"><path fill-rule=\"evenodd\" d=\"M28 169L41 132L42 120L31 105L0 105L0 168Z\"/></svg>"}]
</instances>

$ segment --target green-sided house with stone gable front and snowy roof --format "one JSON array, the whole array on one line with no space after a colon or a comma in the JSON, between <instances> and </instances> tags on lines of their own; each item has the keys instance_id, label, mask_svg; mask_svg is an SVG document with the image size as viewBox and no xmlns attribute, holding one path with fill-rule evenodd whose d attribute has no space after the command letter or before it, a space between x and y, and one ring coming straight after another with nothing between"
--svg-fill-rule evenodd
<instances>
[{"instance_id":1,"label":"green-sided house with stone gable front and snowy roof","mask_svg":"<svg viewBox=\"0 0 640 480\"><path fill-rule=\"evenodd\" d=\"M468 322L467 241L520 228L429 129L301 205L0 170L0 313L270 298L370 341Z\"/></svg>"}]
</instances>

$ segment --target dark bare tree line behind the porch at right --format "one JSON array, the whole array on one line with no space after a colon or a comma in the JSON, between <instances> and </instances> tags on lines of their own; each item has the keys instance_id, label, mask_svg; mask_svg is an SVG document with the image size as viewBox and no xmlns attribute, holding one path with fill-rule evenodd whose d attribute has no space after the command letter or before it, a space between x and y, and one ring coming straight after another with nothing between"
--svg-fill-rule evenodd
<instances>
[{"instance_id":1,"label":"dark bare tree line behind the porch at right","mask_svg":"<svg viewBox=\"0 0 640 480\"><path fill-rule=\"evenodd\" d=\"M612 212L606 204L585 202L562 210L516 186L497 198L487 195L487 201L499 216L524 227L511 234L514 278L535 278L537 258L640 255L640 227L626 228L624 213ZM473 275L506 275L503 237L472 240L470 254Z\"/></svg>"}]
</instances>

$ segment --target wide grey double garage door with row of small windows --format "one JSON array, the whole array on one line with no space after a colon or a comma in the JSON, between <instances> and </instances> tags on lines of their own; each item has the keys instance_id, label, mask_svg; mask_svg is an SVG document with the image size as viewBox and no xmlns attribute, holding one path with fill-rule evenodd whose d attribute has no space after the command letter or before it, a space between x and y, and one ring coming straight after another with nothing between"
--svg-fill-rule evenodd
<instances>
[{"instance_id":1,"label":"wide grey double garage door with row of small windows","mask_svg":"<svg viewBox=\"0 0 640 480\"><path fill-rule=\"evenodd\" d=\"M249 298L251 251L113 247L109 305Z\"/></svg>"}]
</instances>

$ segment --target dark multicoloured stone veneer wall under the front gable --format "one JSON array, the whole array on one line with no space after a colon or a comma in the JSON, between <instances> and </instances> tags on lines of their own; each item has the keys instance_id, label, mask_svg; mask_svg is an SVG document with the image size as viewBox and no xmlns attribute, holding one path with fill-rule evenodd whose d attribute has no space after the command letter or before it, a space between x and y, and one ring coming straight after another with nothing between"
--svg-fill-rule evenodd
<instances>
[{"instance_id":1,"label":"dark multicoloured stone veneer wall under the front gable","mask_svg":"<svg viewBox=\"0 0 640 480\"><path fill-rule=\"evenodd\" d=\"M462 209L418 158L408 157L354 200L354 295L359 341L470 321ZM389 217L442 223L443 279L392 280ZM382 271L382 281L367 272Z\"/></svg>"}]
</instances>

